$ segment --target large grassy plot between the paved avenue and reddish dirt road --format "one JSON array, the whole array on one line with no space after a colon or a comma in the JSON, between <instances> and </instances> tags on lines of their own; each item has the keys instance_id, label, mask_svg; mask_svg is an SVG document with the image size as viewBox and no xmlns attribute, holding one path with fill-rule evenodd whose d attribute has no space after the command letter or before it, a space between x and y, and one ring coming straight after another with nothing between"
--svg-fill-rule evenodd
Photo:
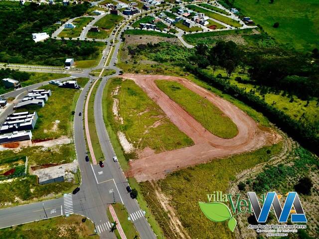
<instances>
[{"instance_id":1,"label":"large grassy plot between the paved avenue and reddish dirt road","mask_svg":"<svg viewBox=\"0 0 319 239\"><path fill-rule=\"evenodd\" d=\"M124 132L137 150L151 148L162 152L193 144L132 80L112 79L107 104L109 121L117 132ZM118 116L114 114L116 110Z\"/></svg>"}]
</instances>

